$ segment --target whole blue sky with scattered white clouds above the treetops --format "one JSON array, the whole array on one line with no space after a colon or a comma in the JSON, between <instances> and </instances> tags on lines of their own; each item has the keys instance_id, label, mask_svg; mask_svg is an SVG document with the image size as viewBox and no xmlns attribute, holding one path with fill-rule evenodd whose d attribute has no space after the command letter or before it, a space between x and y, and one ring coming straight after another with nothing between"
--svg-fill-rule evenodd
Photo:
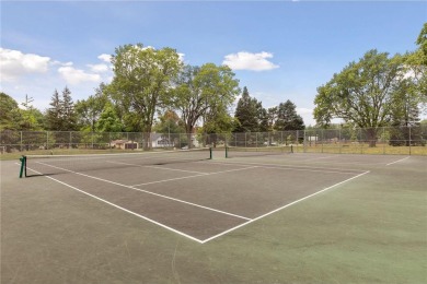
<instances>
[{"instance_id":1,"label":"whole blue sky with scattered white clouds above the treetops","mask_svg":"<svg viewBox=\"0 0 427 284\"><path fill-rule=\"evenodd\" d=\"M371 49L404 54L427 22L427 1L3 1L0 92L49 107L114 76L127 44L171 47L191 66L228 64L265 108L290 99L307 126L316 88Z\"/></svg>"}]
</instances>

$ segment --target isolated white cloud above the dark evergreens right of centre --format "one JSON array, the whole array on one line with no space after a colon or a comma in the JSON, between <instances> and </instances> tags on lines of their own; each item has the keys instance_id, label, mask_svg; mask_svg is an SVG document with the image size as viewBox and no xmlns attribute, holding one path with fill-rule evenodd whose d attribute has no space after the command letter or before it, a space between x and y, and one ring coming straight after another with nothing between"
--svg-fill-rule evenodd
<instances>
[{"instance_id":1,"label":"isolated white cloud above the dark evergreens right of centre","mask_svg":"<svg viewBox=\"0 0 427 284\"><path fill-rule=\"evenodd\" d=\"M226 56L222 63L229 66L232 70L265 71L279 68L279 66L268 61L269 58L273 58L270 52L251 54L240 51Z\"/></svg>"}]
</instances>

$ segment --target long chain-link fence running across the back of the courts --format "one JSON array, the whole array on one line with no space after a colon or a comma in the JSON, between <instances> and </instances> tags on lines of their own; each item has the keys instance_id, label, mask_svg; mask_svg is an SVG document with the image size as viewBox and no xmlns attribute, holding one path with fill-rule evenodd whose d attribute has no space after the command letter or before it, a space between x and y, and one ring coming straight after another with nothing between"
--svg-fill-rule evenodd
<instances>
[{"instance_id":1,"label":"long chain-link fence running across the back of the courts","mask_svg":"<svg viewBox=\"0 0 427 284\"><path fill-rule=\"evenodd\" d=\"M427 155L427 126L241 133L0 131L0 152L293 145L296 152Z\"/></svg>"}]
</instances>

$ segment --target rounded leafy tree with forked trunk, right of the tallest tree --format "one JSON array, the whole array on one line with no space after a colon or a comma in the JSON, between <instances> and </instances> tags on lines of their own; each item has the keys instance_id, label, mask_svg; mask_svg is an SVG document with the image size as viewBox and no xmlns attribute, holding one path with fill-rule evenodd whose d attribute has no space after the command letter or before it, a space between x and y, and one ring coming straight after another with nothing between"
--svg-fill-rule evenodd
<instances>
[{"instance_id":1,"label":"rounded leafy tree with forked trunk, right of the tallest tree","mask_svg":"<svg viewBox=\"0 0 427 284\"><path fill-rule=\"evenodd\" d=\"M210 125L219 123L240 92L239 81L234 79L231 69L214 63L186 66L175 84L171 104L185 123L188 141L200 119Z\"/></svg>"}]
</instances>

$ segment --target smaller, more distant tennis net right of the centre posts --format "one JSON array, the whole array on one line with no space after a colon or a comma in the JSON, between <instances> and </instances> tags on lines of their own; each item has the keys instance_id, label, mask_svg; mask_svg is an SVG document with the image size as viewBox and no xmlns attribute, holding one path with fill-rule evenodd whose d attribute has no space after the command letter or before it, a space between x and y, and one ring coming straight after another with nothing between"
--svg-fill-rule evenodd
<instances>
[{"instance_id":1,"label":"smaller, more distant tennis net right of the centre posts","mask_svg":"<svg viewBox=\"0 0 427 284\"><path fill-rule=\"evenodd\" d=\"M293 146L266 146L266 147L235 147L226 149L226 157L251 157L265 155L284 155L293 153Z\"/></svg>"}]
</instances>

